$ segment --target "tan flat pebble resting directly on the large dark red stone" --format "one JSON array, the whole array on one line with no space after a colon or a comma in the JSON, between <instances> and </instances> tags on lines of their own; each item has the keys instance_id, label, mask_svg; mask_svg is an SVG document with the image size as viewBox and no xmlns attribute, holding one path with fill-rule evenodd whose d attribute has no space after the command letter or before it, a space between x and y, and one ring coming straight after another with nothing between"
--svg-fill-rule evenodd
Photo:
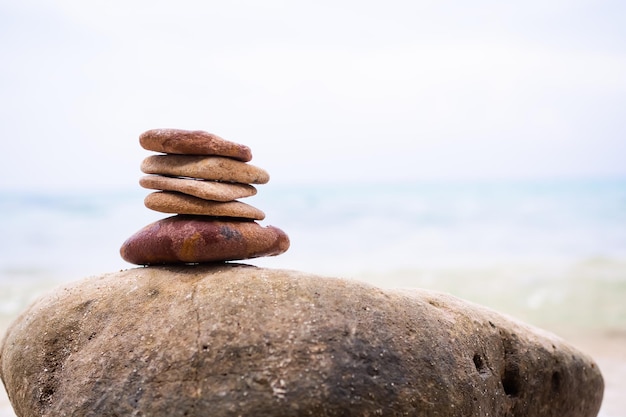
<instances>
[{"instance_id":1,"label":"tan flat pebble resting directly on the large dark red stone","mask_svg":"<svg viewBox=\"0 0 626 417\"><path fill-rule=\"evenodd\" d=\"M240 201L209 201L171 191L150 193L144 199L144 204L150 210L161 213L236 217L248 220L263 220L265 218L265 213L261 210Z\"/></svg>"}]
</instances>

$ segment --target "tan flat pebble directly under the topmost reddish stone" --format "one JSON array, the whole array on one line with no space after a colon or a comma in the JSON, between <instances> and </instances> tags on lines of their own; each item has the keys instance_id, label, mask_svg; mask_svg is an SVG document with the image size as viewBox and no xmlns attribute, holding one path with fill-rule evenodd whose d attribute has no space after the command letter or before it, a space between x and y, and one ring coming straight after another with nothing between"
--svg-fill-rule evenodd
<instances>
[{"instance_id":1,"label":"tan flat pebble directly under the topmost reddish stone","mask_svg":"<svg viewBox=\"0 0 626 417\"><path fill-rule=\"evenodd\" d=\"M242 184L265 184L270 180L264 169L219 156L152 155L143 160L141 171Z\"/></svg>"}]
</instances>

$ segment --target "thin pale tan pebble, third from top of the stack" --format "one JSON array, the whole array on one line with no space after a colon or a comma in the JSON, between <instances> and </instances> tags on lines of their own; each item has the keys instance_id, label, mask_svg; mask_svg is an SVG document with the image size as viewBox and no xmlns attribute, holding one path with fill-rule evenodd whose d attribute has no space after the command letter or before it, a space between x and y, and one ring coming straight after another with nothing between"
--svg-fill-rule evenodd
<instances>
[{"instance_id":1,"label":"thin pale tan pebble, third from top of the stack","mask_svg":"<svg viewBox=\"0 0 626 417\"><path fill-rule=\"evenodd\" d=\"M162 175L146 175L139 180L139 185L152 190L178 191L213 201L232 201L256 194L256 188L248 184L164 177Z\"/></svg>"}]
</instances>

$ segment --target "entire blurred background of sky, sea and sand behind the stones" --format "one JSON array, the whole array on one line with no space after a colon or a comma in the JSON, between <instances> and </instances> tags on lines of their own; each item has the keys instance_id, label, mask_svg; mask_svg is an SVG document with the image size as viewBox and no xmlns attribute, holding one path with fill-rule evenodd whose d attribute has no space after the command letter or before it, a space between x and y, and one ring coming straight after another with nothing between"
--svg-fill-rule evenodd
<instances>
[{"instance_id":1,"label":"entire blurred background of sky, sea and sand behind the stones","mask_svg":"<svg viewBox=\"0 0 626 417\"><path fill-rule=\"evenodd\" d=\"M250 260L452 293L552 331L626 416L626 4L0 0L0 333L133 267L141 132L252 148ZM0 390L0 417L13 417Z\"/></svg>"}]
</instances>

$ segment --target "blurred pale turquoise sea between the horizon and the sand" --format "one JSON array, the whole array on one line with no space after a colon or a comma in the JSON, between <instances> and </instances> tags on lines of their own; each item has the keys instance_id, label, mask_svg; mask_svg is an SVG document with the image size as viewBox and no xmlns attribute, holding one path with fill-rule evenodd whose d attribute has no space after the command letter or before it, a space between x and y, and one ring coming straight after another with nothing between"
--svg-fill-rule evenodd
<instances>
[{"instance_id":1,"label":"blurred pale turquoise sea between the horizon and the sand","mask_svg":"<svg viewBox=\"0 0 626 417\"><path fill-rule=\"evenodd\" d=\"M626 179L258 186L244 201L290 250L251 260L427 287L538 324L626 329ZM0 324L52 286L130 268L122 242L166 217L129 190L0 192Z\"/></svg>"}]
</instances>

